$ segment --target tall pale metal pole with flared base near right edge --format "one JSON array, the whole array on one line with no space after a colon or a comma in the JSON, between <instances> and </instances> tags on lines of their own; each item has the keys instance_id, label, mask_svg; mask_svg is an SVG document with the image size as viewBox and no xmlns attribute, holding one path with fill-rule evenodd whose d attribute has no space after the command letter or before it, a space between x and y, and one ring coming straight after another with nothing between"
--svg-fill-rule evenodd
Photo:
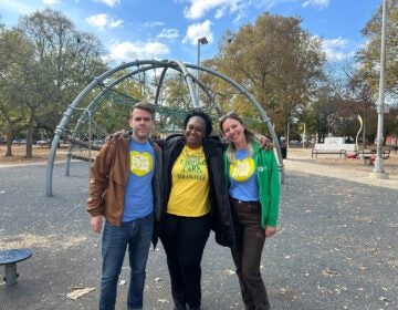
<instances>
[{"instance_id":1,"label":"tall pale metal pole with flared base near right edge","mask_svg":"<svg viewBox=\"0 0 398 310\"><path fill-rule=\"evenodd\" d=\"M386 24L387 24L387 0L383 0L381 18L381 51L380 51L380 78L379 78L379 96L377 104L377 156L375 168L371 176L377 178L387 178L383 166L383 125L385 113L385 70L386 70Z\"/></svg>"}]
</instances>

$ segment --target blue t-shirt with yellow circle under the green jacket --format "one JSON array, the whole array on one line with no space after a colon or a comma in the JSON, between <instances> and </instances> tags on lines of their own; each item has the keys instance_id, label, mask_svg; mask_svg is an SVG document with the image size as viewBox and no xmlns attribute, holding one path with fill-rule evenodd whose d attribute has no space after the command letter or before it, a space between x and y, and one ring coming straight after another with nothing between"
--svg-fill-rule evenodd
<instances>
[{"instance_id":1,"label":"blue t-shirt with yellow circle under the green jacket","mask_svg":"<svg viewBox=\"0 0 398 310\"><path fill-rule=\"evenodd\" d=\"M248 149L234 152L235 162L230 164L231 197L242 202L259 202L259 184L255 163Z\"/></svg>"}]
</instances>

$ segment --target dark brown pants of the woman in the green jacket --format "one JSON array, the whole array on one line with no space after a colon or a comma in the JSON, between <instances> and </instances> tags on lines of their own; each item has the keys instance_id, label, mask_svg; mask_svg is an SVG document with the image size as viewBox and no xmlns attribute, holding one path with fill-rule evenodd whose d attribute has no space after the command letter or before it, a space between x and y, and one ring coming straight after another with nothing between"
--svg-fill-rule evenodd
<instances>
[{"instance_id":1,"label":"dark brown pants of the woman in the green jacket","mask_svg":"<svg viewBox=\"0 0 398 310\"><path fill-rule=\"evenodd\" d=\"M237 248L231 249L242 293L244 309L269 310L270 302L263 280L260 262L265 242L261 228L260 204L240 203L230 199L235 225Z\"/></svg>"}]
</instances>

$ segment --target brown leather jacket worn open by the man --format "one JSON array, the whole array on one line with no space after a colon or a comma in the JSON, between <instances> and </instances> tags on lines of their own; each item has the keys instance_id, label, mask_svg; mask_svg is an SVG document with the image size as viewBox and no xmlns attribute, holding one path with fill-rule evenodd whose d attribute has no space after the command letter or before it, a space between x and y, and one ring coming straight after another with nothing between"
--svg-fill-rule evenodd
<instances>
[{"instance_id":1,"label":"brown leather jacket worn open by the man","mask_svg":"<svg viewBox=\"0 0 398 310\"><path fill-rule=\"evenodd\" d=\"M128 144L130 136L111 137L101 148L92 167L87 211L102 215L117 227L122 225L124 196L129 170ZM153 178L155 219L159 221L163 199L160 193L161 149L149 141L155 149L155 176Z\"/></svg>"}]
</instances>

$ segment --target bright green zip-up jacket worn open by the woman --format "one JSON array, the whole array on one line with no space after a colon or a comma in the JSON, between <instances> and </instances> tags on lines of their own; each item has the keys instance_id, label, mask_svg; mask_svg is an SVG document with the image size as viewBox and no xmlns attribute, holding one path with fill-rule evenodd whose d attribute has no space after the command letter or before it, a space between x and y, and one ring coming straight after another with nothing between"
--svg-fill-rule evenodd
<instances>
[{"instance_id":1,"label":"bright green zip-up jacket worn open by the woman","mask_svg":"<svg viewBox=\"0 0 398 310\"><path fill-rule=\"evenodd\" d=\"M261 203L261 227L276 226L280 202L280 176L276 158L273 151L260 149L259 144L253 142L253 161L259 182L259 195ZM226 179L230 185L230 161L227 152L223 153Z\"/></svg>"}]
</instances>

